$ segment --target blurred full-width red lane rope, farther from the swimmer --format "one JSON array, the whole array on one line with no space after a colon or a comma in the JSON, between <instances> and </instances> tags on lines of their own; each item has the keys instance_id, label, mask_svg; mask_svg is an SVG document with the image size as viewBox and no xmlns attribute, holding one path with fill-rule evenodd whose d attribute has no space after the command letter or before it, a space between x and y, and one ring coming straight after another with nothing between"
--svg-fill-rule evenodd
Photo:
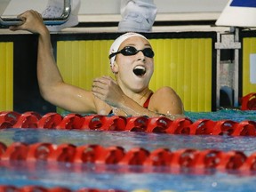
<instances>
[{"instance_id":1,"label":"blurred full-width red lane rope, farther from the swimmer","mask_svg":"<svg viewBox=\"0 0 256 192\"><path fill-rule=\"evenodd\" d=\"M113 146L104 148L100 145L75 146L73 144L55 145L51 143L24 144L14 142L9 147L0 142L0 160L27 162L66 162L79 164L118 164L142 165L145 172L150 167L169 167L179 170L196 168L196 172L204 169L220 171L256 171L256 153L245 156L242 151L228 152L206 149L183 148L171 151L168 148L157 148L148 151L145 148L124 148ZM141 167L140 167L141 168ZM129 170L129 168L128 168ZM127 171L127 170L126 170ZM125 169L123 170L125 172Z\"/></svg>"}]
</instances>

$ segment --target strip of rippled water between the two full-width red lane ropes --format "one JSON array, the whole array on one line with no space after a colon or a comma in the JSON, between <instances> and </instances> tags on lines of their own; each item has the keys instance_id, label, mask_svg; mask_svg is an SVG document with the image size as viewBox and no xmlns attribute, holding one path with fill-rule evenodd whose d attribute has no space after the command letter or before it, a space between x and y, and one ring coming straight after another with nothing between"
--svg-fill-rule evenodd
<instances>
[{"instance_id":1,"label":"strip of rippled water between the two full-width red lane ropes","mask_svg":"<svg viewBox=\"0 0 256 192\"><path fill-rule=\"evenodd\" d=\"M76 146L99 144L104 147L121 146L126 150L135 147L153 150L156 148L220 149L242 150L248 156L255 151L255 137L230 137L210 135L172 135L148 132L95 132L42 129L6 129L0 131L0 140L7 145L13 141L33 144L51 142L54 144L72 143Z\"/></svg>"}]
</instances>

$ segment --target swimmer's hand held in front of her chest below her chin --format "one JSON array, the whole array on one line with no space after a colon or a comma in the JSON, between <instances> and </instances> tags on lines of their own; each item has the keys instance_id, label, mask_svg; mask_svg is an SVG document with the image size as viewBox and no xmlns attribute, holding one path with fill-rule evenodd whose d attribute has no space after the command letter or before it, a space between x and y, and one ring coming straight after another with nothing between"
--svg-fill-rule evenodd
<instances>
[{"instance_id":1,"label":"swimmer's hand held in front of her chest below her chin","mask_svg":"<svg viewBox=\"0 0 256 192\"><path fill-rule=\"evenodd\" d=\"M112 107L117 107L124 100L124 92L116 81L109 76L102 76L93 80L92 93L100 100Z\"/></svg>"}]
</instances>

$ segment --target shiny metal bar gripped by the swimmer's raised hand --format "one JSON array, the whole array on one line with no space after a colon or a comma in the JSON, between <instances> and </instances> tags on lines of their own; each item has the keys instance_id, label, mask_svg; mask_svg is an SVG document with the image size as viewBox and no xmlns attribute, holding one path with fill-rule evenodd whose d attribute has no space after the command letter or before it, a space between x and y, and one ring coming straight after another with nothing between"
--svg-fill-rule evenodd
<instances>
[{"instance_id":1,"label":"shiny metal bar gripped by the swimmer's raised hand","mask_svg":"<svg viewBox=\"0 0 256 192\"><path fill-rule=\"evenodd\" d=\"M71 13L71 0L63 0L64 1L64 9L59 18L43 18L45 25L61 25L68 20L68 17ZM0 17L0 25L2 26L14 26L21 25L23 20L19 18L7 18Z\"/></svg>"}]
</instances>

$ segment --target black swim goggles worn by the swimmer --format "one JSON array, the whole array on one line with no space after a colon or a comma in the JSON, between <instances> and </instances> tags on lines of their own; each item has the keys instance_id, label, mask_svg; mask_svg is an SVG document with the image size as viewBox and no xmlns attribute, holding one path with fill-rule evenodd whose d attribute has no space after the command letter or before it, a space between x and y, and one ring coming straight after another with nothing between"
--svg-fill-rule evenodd
<instances>
[{"instance_id":1,"label":"black swim goggles worn by the swimmer","mask_svg":"<svg viewBox=\"0 0 256 192\"><path fill-rule=\"evenodd\" d=\"M135 47L133 46L125 46L122 50L120 50L119 52L113 52L111 53L108 58L111 59L112 57L114 57L116 54L123 54L124 56L131 56L131 55L135 55L138 52L143 52L143 54L148 57L148 58L153 58L155 53L153 52L153 50L151 48L145 48L143 50L137 50Z\"/></svg>"}]
</instances>

